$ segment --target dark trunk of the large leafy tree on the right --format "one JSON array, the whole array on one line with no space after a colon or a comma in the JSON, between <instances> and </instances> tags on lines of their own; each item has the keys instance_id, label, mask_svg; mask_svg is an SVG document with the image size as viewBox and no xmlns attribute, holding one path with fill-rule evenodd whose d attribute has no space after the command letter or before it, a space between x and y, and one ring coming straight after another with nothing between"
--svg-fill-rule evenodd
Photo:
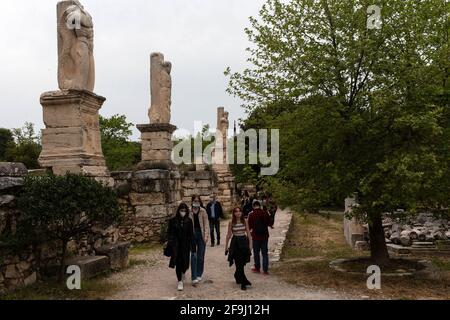
<instances>
[{"instance_id":1,"label":"dark trunk of the large leafy tree on the right","mask_svg":"<svg viewBox=\"0 0 450 320\"><path fill-rule=\"evenodd\" d=\"M383 221L381 214L376 213L371 217L369 223L370 255L378 266L389 264L389 253L384 236Z\"/></svg>"}]
</instances>

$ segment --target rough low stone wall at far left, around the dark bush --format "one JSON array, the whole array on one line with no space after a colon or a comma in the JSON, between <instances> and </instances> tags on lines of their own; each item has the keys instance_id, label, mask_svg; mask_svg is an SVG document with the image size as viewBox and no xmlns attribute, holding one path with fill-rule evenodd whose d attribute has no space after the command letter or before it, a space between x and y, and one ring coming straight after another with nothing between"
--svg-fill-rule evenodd
<instances>
[{"instance_id":1,"label":"rough low stone wall at far left, around the dark bush","mask_svg":"<svg viewBox=\"0 0 450 320\"><path fill-rule=\"evenodd\" d=\"M39 174L42 173L45 172ZM35 175L36 172L32 174ZM27 175L28 170L23 164L0 163L0 236L14 235L17 230L20 216L17 198ZM77 256L91 256L99 248L116 243L118 239L117 228L94 227L88 236L72 240L68 244L68 251ZM0 242L0 293L35 283L42 278L41 270L59 263L58 254L52 243L46 243L35 250L29 248L15 252Z\"/></svg>"}]
</instances>

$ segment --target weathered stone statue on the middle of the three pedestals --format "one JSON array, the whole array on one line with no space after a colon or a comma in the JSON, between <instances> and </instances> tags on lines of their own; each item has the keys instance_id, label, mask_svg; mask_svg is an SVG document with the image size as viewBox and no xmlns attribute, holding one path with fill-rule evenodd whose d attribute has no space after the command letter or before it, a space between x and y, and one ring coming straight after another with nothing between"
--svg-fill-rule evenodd
<instances>
[{"instance_id":1,"label":"weathered stone statue on the middle of the three pedestals","mask_svg":"<svg viewBox=\"0 0 450 320\"><path fill-rule=\"evenodd\" d=\"M172 64L164 61L161 53L152 53L151 57L151 105L150 123L170 123L172 104Z\"/></svg>"}]
</instances>

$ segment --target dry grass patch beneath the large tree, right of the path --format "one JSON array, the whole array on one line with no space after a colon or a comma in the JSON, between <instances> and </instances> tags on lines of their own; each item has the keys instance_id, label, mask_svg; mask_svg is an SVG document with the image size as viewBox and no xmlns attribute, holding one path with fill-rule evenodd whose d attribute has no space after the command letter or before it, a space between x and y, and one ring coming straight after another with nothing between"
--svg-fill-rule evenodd
<instances>
[{"instance_id":1,"label":"dry grass patch beneath the large tree, right of the path","mask_svg":"<svg viewBox=\"0 0 450 320\"><path fill-rule=\"evenodd\" d=\"M329 263L335 259L369 256L368 252L357 252L347 245L343 231L343 212L296 213L292 219L282 262L272 270L285 281L373 299L450 299L449 257L428 258L444 271L442 280L382 277L382 290L372 291L366 286L368 275L350 275L329 267ZM359 269L364 269L363 267L359 266Z\"/></svg>"}]
</instances>

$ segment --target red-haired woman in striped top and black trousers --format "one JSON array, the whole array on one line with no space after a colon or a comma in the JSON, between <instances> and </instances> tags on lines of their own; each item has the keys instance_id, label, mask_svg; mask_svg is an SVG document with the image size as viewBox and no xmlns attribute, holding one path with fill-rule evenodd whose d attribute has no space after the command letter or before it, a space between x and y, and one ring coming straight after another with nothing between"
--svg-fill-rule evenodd
<instances>
[{"instance_id":1,"label":"red-haired woman in striped top and black trousers","mask_svg":"<svg viewBox=\"0 0 450 320\"><path fill-rule=\"evenodd\" d=\"M231 239L231 244L228 246ZM250 262L252 240L248 222L242 214L241 208L233 210L233 219L228 224L228 234L225 242L225 255L228 255L230 267L236 265L234 278L236 283L241 285L242 290L247 290L251 286L245 275L245 265Z\"/></svg>"}]
</instances>

